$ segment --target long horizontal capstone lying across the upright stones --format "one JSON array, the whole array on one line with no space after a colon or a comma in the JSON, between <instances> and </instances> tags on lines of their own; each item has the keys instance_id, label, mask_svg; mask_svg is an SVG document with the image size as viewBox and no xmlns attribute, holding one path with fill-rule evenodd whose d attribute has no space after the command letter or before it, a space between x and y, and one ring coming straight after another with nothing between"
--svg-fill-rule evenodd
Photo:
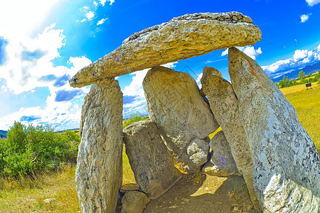
<instances>
[{"instance_id":1,"label":"long horizontal capstone lying across the upright stones","mask_svg":"<svg viewBox=\"0 0 320 213\"><path fill-rule=\"evenodd\" d=\"M105 77L176 62L233 46L253 45L261 31L242 13L194 13L132 34L111 53L80 70L72 87L84 87Z\"/></svg>"}]
</instances>

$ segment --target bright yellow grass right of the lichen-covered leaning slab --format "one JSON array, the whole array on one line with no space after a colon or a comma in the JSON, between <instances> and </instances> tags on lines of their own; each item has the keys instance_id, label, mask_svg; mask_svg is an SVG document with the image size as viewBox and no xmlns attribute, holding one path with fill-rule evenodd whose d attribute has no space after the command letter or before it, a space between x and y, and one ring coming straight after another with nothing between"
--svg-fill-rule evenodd
<instances>
[{"instance_id":1,"label":"bright yellow grass right of the lichen-covered leaning slab","mask_svg":"<svg viewBox=\"0 0 320 213\"><path fill-rule=\"evenodd\" d=\"M311 136L320 153L320 85L312 83L312 89L296 85L280 89L297 111L299 121Z\"/></svg>"}]
</instances>

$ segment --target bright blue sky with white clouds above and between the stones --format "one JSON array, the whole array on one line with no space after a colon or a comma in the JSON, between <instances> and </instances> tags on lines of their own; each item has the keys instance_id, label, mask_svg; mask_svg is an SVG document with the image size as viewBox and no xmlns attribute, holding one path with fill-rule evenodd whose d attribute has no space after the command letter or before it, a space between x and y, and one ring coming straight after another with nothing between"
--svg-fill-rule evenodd
<instances>
[{"instance_id":1,"label":"bright blue sky with white clouds above and between the stones","mask_svg":"<svg viewBox=\"0 0 320 213\"><path fill-rule=\"evenodd\" d=\"M120 1L11 0L0 6L0 129L14 121L78 128L90 87L68 78L110 53L134 32L186 13L239 11L252 18L262 40L240 50L270 77L320 61L320 0ZM203 67L226 80L225 50L166 65L198 83ZM147 70L119 77L124 117L146 114L142 80Z\"/></svg>"}]
</instances>

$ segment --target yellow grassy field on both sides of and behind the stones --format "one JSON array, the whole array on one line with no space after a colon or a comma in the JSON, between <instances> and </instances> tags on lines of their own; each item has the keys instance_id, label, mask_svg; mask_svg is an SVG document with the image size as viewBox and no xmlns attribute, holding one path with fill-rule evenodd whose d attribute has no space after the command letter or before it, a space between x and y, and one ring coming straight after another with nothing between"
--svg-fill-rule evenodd
<instances>
[{"instance_id":1,"label":"yellow grassy field on both sides of and behind the stones","mask_svg":"<svg viewBox=\"0 0 320 213\"><path fill-rule=\"evenodd\" d=\"M312 83L312 89L297 85L280 90L297 109L299 121L320 153L320 85ZM132 121L139 120L134 116ZM132 121L124 121L124 125ZM213 134L210 134L210 138ZM135 182L125 149L123 170L123 184ZM50 198L54 200L48 203L44 201ZM80 212L75 190L75 165L68 165L60 173L44 173L19 181L0 178L0 212Z\"/></svg>"}]
</instances>

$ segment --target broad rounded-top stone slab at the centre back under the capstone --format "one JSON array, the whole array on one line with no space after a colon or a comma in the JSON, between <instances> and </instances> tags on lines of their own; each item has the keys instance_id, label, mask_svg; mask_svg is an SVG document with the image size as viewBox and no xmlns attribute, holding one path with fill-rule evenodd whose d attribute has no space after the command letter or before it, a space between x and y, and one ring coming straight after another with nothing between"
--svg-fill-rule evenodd
<instances>
[{"instance_id":1,"label":"broad rounded-top stone slab at the centre back under the capstone","mask_svg":"<svg viewBox=\"0 0 320 213\"><path fill-rule=\"evenodd\" d=\"M185 72L152 67L142 84L150 119L159 127L166 146L181 168L199 172L208 155L206 137L219 125L196 81Z\"/></svg>"}]
</instances>

